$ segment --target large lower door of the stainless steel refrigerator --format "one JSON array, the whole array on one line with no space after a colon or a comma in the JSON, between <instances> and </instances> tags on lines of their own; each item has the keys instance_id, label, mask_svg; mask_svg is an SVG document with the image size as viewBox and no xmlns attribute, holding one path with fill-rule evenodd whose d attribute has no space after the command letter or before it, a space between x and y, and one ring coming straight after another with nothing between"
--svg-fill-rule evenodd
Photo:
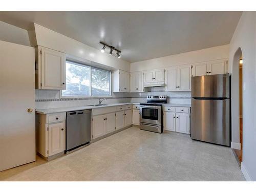
<instances>
[{"instance_id":1,"label":"large lower door of the stainless steel refrigerator","mask_svg":"<svg viewBox=\"0 0 256 192\"><path fill-rule=\"evenodd\" d=\"M230 146L229 133L229 99L192 99L192 139Z\"/></svg>"}]
</instances>

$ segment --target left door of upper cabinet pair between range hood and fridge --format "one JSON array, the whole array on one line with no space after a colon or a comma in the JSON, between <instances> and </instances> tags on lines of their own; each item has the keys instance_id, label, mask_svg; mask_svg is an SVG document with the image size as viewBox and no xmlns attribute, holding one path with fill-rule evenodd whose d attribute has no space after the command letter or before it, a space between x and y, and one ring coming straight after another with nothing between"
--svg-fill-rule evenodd
<instances>
[{"instance_id":1,"label":"left door of upper cabinet pair between range hood and fridge","mask_svg":"<svg viewBox=\"0 0 256 192\"><path fill-rule=\"evenodd\" d=\"M177 72L178 68L169 68L165 71L165 91L177 90Z\"/></svg>"}]
</instances>

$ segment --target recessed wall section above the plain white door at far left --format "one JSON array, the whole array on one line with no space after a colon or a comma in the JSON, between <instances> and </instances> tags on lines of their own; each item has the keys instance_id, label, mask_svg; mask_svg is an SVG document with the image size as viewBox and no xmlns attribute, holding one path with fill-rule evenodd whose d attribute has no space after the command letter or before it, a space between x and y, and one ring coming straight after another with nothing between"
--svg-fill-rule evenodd
<instances>
[{"instance_id":1,"label":"recessed wall section above the plain white door at far left","mask_svg":"<svg viewBox=\"0 0 256 192\"><path fill-rule=\"evenodd\" d=\"M0 40L30 46L28 31L0 21Z\"/></svg>"}]
</instances>

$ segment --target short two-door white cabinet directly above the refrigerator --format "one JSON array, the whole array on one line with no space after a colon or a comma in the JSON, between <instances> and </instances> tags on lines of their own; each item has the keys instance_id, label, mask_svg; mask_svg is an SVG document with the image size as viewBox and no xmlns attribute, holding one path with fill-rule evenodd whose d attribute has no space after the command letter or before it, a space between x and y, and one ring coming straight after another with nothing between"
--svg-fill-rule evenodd
<instances>
[{"instance_id":1,"label":"short two-door white cabinet directly above the refrigerator","mask_svg":"<svg viewBox=\"0 0 256 192\"><path fill-rule=\"evenodd\" d=\"M227 60L209 61L192 66L192 76L227 73Z\"/></svg>"}]
</instances>

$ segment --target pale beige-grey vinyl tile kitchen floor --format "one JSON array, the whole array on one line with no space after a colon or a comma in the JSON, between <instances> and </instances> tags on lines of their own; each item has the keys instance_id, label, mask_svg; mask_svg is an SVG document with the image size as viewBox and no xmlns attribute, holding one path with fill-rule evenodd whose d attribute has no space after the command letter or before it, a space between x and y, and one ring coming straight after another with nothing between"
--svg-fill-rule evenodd
<instances>
[{"instance_id":1,"label":"pale beige-grey vinyl tile kitchen floor","mask_svg":"<svg viewBox=\"0 0 256 192\"><path fill-rule=\"evenodd\" d=\"M131 127L52 161L0 172L2 181L244 181L231 148Z\"/></svg>"}]
</instances>

